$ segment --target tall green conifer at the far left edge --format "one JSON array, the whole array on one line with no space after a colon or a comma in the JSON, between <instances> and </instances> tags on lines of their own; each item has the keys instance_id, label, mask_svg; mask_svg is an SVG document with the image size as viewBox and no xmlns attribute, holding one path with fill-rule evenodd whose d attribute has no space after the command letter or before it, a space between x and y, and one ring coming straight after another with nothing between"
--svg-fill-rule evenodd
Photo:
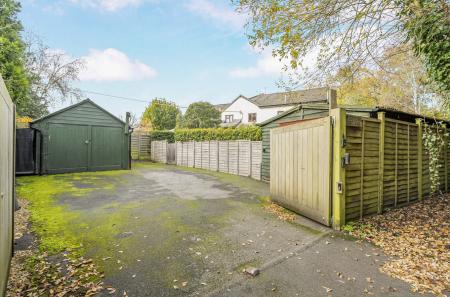
<instances>
[{"instance_id":1,"label":"tall green conifer at the far left edge","mask_svg":"<svg viewBox=\"0 0 450 297\"><path fill-rule=\"evenodd\" d=\"M25 69L25 44L21 39L23 28L17 18L20 8L15 0L3 0L0 4L0 73L17 113L22 114L29 102L30 82Z\"/></svg>"}]
</instances>

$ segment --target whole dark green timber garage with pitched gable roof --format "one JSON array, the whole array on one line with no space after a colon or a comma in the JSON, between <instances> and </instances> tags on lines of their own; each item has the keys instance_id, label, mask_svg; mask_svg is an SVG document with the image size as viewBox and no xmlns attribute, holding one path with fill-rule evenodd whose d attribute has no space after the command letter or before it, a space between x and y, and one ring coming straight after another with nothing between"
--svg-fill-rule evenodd
<instances>
[{"instance_id":1,"label":"whole dark green timber garage with pitched gable roof","mask_svg":"<svg viewBox=\"0 0 450 297\"><path fill-rule=\"evenodd\" d=\"M40 173L130 168L130 128L90 99L31 123L41 134Z\"/></svg>"}]
</instances>

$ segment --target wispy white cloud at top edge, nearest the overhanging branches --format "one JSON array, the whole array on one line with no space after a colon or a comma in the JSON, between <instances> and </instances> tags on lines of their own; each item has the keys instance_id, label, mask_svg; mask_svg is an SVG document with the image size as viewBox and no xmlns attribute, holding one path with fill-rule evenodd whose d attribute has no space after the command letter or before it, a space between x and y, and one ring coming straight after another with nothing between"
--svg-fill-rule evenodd
<instances>
[{"instance_id":1,"label":"wispy white cloud at top edge, nearest the overhanging branches","mask_svg":"<svg viewBox=\"0 0 450 297\"><path fill-rule=\"evenodd\" d=\"M189 0L186 7L199 16L227 25L235 30L242 30L246 16L237 13L225 5L217 5L211 0Z\"/></svg>"}]
</instances>

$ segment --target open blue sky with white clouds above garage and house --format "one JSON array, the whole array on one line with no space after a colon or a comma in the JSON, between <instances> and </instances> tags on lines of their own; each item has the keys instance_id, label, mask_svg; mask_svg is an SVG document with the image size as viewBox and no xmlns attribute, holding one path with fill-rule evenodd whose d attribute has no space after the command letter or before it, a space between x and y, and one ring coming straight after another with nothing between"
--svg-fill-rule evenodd
<instances>
[{"instance_id":1,"label":"open blue sky with white clouds above garage and house","mask_svg":"<svg viewBox=\"0 0 450 297\"><path fill-rule=\"evenodd\" d=\"M280 91L283 64L257 51L245 35L245 15L230 0L22 0L25 31L84 69L75 86L148 100L231 102L239 94ZM140 117L148 103L92 93L113 114ZM70 105L57 103L51 111Z\"/></svg>"}]
</instances>

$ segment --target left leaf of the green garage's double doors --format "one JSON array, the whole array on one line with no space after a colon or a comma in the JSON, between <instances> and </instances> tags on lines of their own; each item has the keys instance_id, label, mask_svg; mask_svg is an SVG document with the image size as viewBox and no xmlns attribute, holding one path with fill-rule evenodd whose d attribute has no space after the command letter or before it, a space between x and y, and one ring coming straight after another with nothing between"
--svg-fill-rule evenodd
<instances>
[{"instance_id":1,"label":"left leaf of the green garage's double doors","mask_svg":"<svg viewBox=\"0 0 450 297\"><path fill-rule=\"evenodd\" d=\"M47 155L49 173L88 170L89 128L83 125L50 124Z\"/></svg>"}]
</instances>

